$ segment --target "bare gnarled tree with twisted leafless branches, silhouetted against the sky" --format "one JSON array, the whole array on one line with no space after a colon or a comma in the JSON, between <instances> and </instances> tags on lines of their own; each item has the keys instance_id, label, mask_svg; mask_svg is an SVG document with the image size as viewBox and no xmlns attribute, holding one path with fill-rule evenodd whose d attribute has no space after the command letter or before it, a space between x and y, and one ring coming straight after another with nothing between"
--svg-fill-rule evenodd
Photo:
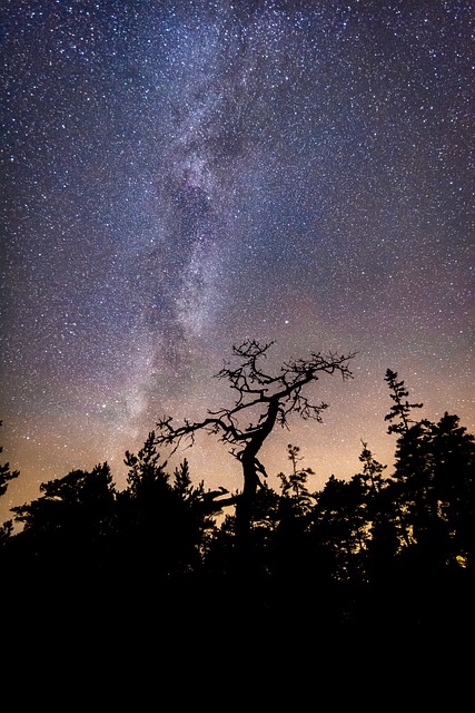
<instances>
[{"instance_id":1,"label":"bare gnarled tree with twisted leafless branches, silhouetted against the sky","mask_svg":"<svg viewBox=\"0 0 475 713\"><path fill-rule=\"evenodd\" d=\"M308 360L284 363L279 372L271 375L263 365L271 344L246 340L239 346L232 346L237 365L226 364L217 374L218 379L228 380L236 393L230 408L208 411L202 421L185 420L181 426L175 426L172 418L166 417L157 423L156 431L156 442L172 445L174 450L184 440L188 441L188 446L192 445L196 432L200 430L219 436L222 442L230 445L230 452L243 466L243 491L235 502L238 543L245 551L249 543L255 495L263 485L260 476L266 475L258 459L266 438L275 426L286 427L293 413L303 419L320 421L327 404L310 402L304 393L305 388L324 373L339 372L343 379L352 378L348 361L355 355L311 353Z\"/></svg>"}]
</instances>

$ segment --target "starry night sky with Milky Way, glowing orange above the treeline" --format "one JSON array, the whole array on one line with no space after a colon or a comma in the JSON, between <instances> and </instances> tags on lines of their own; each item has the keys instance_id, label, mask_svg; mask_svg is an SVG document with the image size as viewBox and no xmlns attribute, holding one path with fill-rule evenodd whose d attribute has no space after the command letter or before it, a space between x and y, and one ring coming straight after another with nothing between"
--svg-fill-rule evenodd
<instances>
[{"instance_id":1,"label":"starry night sky with Milky Way, glowing orange above the treeline","mask_svg":"<svg viewBox=\"0 0 475 713\"><path fill-rule=\"evenodd\" d=\"M474 404L469 0L11 0L1 9L2 462L8 508L232 404L234 343L267 368L348 353L314 387L310 488L388 465L384 382L424 416ZM164 457L167 453L164 452ZM197 480L240 486L210 436Z\"/></svg>"}]
</instances>

